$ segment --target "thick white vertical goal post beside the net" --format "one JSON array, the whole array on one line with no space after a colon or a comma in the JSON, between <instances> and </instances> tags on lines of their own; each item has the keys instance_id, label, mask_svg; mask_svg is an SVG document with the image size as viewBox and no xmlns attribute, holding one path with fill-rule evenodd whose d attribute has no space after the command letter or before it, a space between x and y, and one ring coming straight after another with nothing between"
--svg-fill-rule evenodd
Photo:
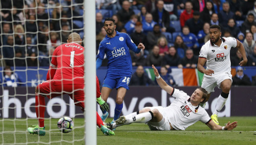
<instances>
[{"instance_id":1,"label":"thick white vertical goal post beside the net","mask_svg":"<svg viewBox=\"0 0 256 145\"><path fill-rule=\"evenodd\" d=\"M86 144L97 144L96 137L96 21L95 21L95 3L91 1L84 2L84 56L86 62L85 69L85 142Z\"/></svg>"}]
</instances>

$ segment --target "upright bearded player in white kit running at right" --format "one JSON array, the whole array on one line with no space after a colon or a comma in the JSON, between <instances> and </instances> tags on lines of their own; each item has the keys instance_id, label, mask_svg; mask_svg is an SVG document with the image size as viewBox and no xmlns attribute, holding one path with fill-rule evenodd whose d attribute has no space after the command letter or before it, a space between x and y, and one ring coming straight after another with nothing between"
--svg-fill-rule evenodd
<instances>
[{"instance_id":1,"label":"upright bearded player in white kit running at right","mask_svg":"<svg viewBox=\"0 0 256 145\"><path fill-rule=\"evenodd\" d=\"M219 125L218 113L225 105L232 84L230 49L238 47L243 56L243 61L239 64L245 66L247 57L243 44L233 37L221 38L221 27L219 25L211 25L209 30L210 40L206 42L200 51L197 69L204 73L202 88L208 95L204 103L209 99L211 92L218 85L222 89L216 109L211 115L211 119ZM207 61L207 62L206 62ZM203 67L206 62L206 69ZM203 107L205 104L201 104Z\"/></svg>"}]
</instances>

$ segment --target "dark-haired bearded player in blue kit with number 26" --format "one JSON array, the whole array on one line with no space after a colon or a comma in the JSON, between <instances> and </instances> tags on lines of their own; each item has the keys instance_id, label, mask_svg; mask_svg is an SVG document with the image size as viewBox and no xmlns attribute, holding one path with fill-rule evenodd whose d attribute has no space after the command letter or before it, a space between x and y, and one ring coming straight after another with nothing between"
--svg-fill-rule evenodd
<instances>
[{"instance_id":1,"label":"dark-haired bearded player in blue kit with number 26","mask_svg":"<svg viewBox=\"0 0 256 145\"><path fill-rule=\"evenodd\" d=\"M112 121L114 123L123 108L123 98L129 90L128 85L132 77L132 59L129 50L139 53L141 49L145 49L145 46L142 43L136 46L126 33L117 32L113 18L106 18L103 28L106 31L106 37L99 45L96 68L101 66L104 54L106 54L108 71L102 85L101 98L104 101L108 100L111 91L114 88L117 89L115 114ZM107 111L102 111L101 119L105 121L108 115Z\"/></svg>"}]
</instances>

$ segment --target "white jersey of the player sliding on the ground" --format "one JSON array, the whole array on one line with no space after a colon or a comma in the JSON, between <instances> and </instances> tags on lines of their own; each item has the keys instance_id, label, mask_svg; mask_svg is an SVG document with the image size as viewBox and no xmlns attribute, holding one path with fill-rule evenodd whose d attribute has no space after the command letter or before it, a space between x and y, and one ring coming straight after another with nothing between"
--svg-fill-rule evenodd
<instances>
[{"instance_id":1,"label":"white jersey of the player sliding on the ground","mask_svg":"<svg viewBox=\"0 0 256 145\"><path fill-rule=\"evenodd\" d=\"M174 89L170 95L176 99L168 107L165 107L161 113L167 117L176 130L185 130L198 121L206 124L211 120L205 109L200 105L193 106L190 103L190 97L183 91Z\"/></svg>"}]
</instances>

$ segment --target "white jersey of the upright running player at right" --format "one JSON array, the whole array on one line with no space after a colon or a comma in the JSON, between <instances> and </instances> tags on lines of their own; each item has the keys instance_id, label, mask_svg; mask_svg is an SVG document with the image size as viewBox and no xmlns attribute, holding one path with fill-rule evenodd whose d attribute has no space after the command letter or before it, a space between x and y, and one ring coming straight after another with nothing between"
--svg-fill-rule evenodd
<instances>
[{"instance_id":1,"label":"white jersey of the upright running player at right","mask_svg":"<svg viewBox=\"0 0 256 145\"><path fill-rule=\"evenodd\" d=\"M209 40L202 46L199 54L199 57L207 59L206 69L214 70L215 73L231 72L230 49L237 47L236 38L228 37L221 40L220 47Z\"/></svg>"}]
</instances>

